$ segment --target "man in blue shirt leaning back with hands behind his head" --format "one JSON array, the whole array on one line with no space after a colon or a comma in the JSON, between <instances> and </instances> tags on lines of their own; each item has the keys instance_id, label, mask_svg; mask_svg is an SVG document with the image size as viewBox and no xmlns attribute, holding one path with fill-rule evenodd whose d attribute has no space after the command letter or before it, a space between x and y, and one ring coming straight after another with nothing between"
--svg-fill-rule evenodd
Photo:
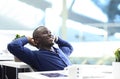
<instances>
[{"instance_id":1,"label":"man in blue shirt leaning back with hands behind his head","mask_svg":"<svg viewBox=\"0 0 120 79\"><path fill-rule=\"evenodd\" d=\"M26 48L28 43L38 50ZM59 48L54 47L54 43ZM40 26L34 30L33 38L18 38L8 44L8 50L37 71L50 71L63 70L71 64L68 56L73 47L61 38L54 37L45 26Z\"/></svg>"}]
</instances>

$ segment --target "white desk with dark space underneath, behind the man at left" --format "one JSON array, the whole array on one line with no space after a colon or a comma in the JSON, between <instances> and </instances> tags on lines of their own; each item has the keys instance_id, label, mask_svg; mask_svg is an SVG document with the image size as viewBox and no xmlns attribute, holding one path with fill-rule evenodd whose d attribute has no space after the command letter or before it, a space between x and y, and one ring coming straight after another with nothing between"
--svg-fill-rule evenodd
<instances>
[{"instance_id":1,"label":"white desk with dark space underneath, behind the man at left","mask_svg":"<svg viewBox=\"0 0 120 79\"><path fill-rule=\"evenodd\" d=\"M26 69L26 68L30 68L30 66L28 66L27 64L23 63L23 62L15 62L15 61L0 61L0 65L2 67L2 71L4 72L4 75L6 75L6 67L12 67L15 68L15 72L16 72L16 78L18 78L18 70L19 69ZM2 79L3 78L3 74L2 74Z\"/></svg>"}]
</instances>

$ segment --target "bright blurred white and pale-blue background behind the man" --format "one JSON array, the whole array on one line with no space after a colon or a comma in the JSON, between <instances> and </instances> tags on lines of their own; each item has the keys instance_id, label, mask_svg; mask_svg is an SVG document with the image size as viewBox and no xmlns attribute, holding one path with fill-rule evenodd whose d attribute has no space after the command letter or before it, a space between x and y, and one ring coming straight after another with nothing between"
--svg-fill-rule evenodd
<instances>
[{"instance_id":1,"label":"bright blurred white and pale-blue background behind the man","mask_svg":"<svg viewBox=\"0 0 120 79\"><path fill-rule=\"evenodd\" d=\"M74 63L111 64L120 47L120 0L0 0L2 50L40 25L74 46Z\"/></svg>"}]
</instances>

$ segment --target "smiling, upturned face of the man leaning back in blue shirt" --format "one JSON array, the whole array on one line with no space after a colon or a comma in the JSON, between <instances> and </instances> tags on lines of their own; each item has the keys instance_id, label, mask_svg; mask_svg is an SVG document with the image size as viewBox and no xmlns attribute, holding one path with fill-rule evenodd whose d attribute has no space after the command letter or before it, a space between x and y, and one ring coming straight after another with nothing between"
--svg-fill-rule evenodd
<instances>
[{"instance_id":1,"label":"smiling, upturned face of the man leaning back in blue shirt","mask_svg":"<svg viewBox=\"0 0 120 79\"><path fill-rule=\"evenodd\" d=\"M43 27L39 30L39 43L42 46L53 46L54 45L54 36L51 34L51 31L46 27Z\"/></svg>"}]
</instances>

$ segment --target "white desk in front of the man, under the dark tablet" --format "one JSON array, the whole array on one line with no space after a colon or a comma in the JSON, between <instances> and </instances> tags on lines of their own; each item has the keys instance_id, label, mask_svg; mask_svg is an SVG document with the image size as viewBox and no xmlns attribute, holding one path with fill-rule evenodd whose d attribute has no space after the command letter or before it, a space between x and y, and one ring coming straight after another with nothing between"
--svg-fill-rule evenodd
<instances>
[{"instance_id":1,"label":"white desk in front of the man, under the dark tablet","mask_svg":"<svg viewBox=\"0 0 120 79\"><path fill-rule=\"evenodd\" d=\"M93 66L93 67L95 67L95 66ZM98 74L97 74L97 76L96 75L90 76L90 75L84 74L83 79L113 79L112 78L112 73L111 73L112 72L111 71L112 67L109 67L109 66L108 67L107 66L96 66L96 67L98 67L98 68L101 67L101 69L102 69L101 73L103 73L103 76L100 75L101 77L100 76L98 77ZM84 71L84 73L88 73L88 71L89 70ZM60 76L60 77L48 77L48 76L43 75L44 73L47 73L47 74L49 74L49 73L59 73L59 74L64 75L64 77L63 76ZM43 71L43 72L25 72L25 73L19 73L18 78L19 79L69 79L68 74L66 73L66 70Z\"/></svg>"}]
</instances>

